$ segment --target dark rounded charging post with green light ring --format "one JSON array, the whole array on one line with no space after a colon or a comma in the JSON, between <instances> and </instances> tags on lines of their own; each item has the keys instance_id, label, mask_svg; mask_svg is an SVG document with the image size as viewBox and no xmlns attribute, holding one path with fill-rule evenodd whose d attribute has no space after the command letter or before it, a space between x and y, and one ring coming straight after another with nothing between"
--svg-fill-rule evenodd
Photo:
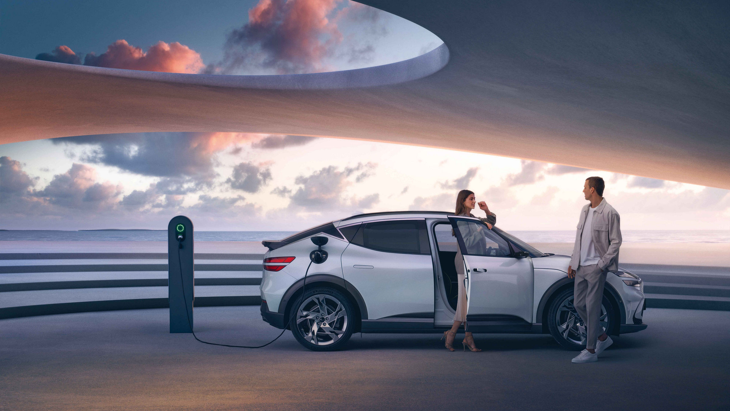
<instances>
[{"instance_id":1,"label":"dark rounded charging post with green light ring","mask_svg":"<svg viewBox=\"0 0 730 411\"><path fill-rule=\"evenodd\" d=\"M194 282L193 222L186 216L175 216L167 225L167 287L171 333L193 332Z\"/></svg>"}]
</instances>

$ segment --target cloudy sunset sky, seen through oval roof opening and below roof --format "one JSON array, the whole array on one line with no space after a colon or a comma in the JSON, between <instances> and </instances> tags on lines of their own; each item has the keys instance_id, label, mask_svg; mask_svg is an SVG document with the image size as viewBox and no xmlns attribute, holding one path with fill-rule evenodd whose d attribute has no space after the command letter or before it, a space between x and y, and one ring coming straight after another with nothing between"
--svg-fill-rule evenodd
<instances>
[{"instance_id":1,"label":"cloudy sunset sky, seen through oval roof opening and below roof","mask_svg":"<svg viewBox=\"0 0 730 411\"><path fill-rule=\"evenodd\" d=\"M0 53L219 75L410 59L441 41L348 1L4 1ZM131 133L0 146L0 229L301 230L374 211L453 211L459 189L506 230L572 230L602 176L624 230L730 230L730 192L507 157L356 140ZM480 214L476 211L475 214Z\"/></svg>"}]
</instances>

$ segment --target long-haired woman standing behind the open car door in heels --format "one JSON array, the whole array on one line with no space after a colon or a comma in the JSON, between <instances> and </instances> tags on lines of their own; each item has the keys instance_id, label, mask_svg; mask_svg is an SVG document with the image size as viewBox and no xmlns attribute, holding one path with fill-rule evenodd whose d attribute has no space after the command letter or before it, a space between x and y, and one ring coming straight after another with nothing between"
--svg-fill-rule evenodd
<instances>
[{"instance_id":1,"label":"long-haired woman standing behind the open car door in heels","mask_svg":"<svg viewBox=\"0 0 730 411\"><path fill-rule=\"evenodd\" d=\"M474 192L471 192L469 190L461 190L458 192L458 195L456 196L456 215L457 216L469 216L474 217L472 214L472 210L477 205L477 200L474 196ZM489 230L492 229L492 225L496 224L497 222L497 216L496 214L489 211L489 207L487 206L487 203L480 201L479 202L479 208L481 208L486 214L486 218L477 217L483 222L486 223L487 228ZM477 229L481 231L481 228ZM464 237L464 241L471 244L472 241L483 241L483 235L481 233L472 233L472 235L462 235ZM456 336L456 331L458 330L459 326L461 324L466 323L466 288L464 287L464 257L461 255L461 249L457 249L456 251L456 259L454 260L454 264L456 265L456 274L458 278L458 300L456 301L456 314L454 314L454 323L451 326L451 329L449 331L446 331L444 333L444 337L446 338L446 349L453 351L453 341L454 336ZM466 347L469 347L469 350L473 352L479 352L481 351L479 348L477 348L476 344L474 343L474 336L472 336L472 333L466 333L464 336L464 341L461 342L462 346L464 347L464 350L466 350Z\"/></svg>"}]
</instances>

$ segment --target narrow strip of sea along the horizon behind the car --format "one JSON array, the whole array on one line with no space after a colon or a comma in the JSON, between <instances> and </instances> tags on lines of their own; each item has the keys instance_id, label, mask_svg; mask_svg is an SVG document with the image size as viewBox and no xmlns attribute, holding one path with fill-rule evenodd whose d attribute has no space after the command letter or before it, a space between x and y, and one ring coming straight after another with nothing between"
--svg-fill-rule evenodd
<instances>
[{"instance_id":1,"label":"narrow strip of sea along the horizon behind the car","mask_svg":"<svg viewBox=\"0 0 730 411\"><path fill-rule=\"evenodd\" d=\"M196 241L279 240L295 231L196 231ZM572 243L575 230L510 231L528 243ZM730 230L626 230L627 243L730 243ZM167 241L166 230L0 230L0 241ZM1 247L1 244L0 244Z\"/></svg>"}]
</instances>

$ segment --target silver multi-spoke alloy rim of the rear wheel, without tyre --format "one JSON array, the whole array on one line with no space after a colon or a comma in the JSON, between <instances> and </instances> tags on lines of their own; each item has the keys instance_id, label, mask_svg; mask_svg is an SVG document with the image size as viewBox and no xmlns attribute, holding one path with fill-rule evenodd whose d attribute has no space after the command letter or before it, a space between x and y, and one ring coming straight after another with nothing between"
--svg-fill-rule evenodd
<instances>
[{"instance_id":1,"label":"silver multi-spoke alloy rim of the rear wheel, without tyre","mask_svg":"<svg viewBox=\"0 0 730 411\"><path fill-rule=\"evenodd\" d=\"M296 327L311 344L334 344L347 331L345 306L332 295L312 295L299 305Z\"/></svg>"}]
</instances>

